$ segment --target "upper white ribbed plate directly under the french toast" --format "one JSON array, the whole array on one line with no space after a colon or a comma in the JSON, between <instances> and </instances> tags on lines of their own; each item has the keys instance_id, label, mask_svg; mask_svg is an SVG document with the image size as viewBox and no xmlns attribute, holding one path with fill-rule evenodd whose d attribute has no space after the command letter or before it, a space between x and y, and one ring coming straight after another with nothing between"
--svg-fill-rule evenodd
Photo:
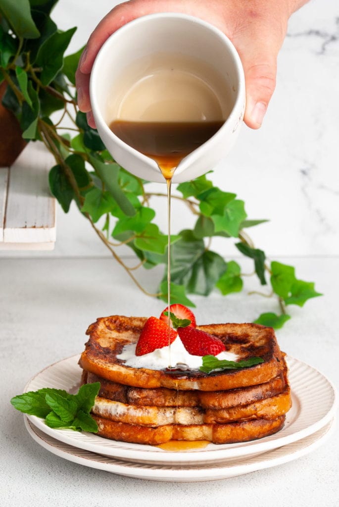
<instances>
[{"instance_id":1,"label":"upper white ribbed plate directly under the french toast","mask_svg":"<svg viewBox=\"0 0 339 507\"><path fill-rule=\"evenodd\" d=\"M68 391L77 389L81 375L78 360L79 356L73 356L47 367L28 382L25 391L35 391L43 387ZM225 459L255 455L308 437L325 426L334 416L335 391L330 382L317 370L297 359L287 357L287 364L292 409L286 416L282 430L257 441L209 444L205 449L170 452L153 446L106 440L93 433L53 429L48 427L43 419L31 415L28 419L44 433L65 444L127 461L198 465L202 462L217 463Z\"/></svg>"}]
</instances>

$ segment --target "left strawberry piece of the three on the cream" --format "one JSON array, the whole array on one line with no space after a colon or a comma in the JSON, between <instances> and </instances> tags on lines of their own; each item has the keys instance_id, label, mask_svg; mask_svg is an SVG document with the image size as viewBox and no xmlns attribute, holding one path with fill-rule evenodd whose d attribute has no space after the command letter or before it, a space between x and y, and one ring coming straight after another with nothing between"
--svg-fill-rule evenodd
<instances>
[{"instance_id":1,"label":"left strawberry piece of the three on the cream","mask_svg":"<svg viewBox=\"0 0 339 507\"><path fill-rule=\"evenodd\" d=\"M140 333L135 355L148 354L157 348L165 347L173 343L176 337L177 332L170 328L168 339L168 324L157 317L149 317Z\"/></svg>"}]
</instances>

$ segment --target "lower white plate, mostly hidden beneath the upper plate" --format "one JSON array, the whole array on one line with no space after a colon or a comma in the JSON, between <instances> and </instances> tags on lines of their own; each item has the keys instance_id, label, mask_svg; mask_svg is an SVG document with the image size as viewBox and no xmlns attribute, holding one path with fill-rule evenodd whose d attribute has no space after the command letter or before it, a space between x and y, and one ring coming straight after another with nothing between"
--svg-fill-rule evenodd
<instances>
[{"instance_id":1,"label":"lower white plate, mostly hidden beneath the upper plate","mask_svg":"<svg viewBox=\"0 0 339 507\"><path fill-rule=\"evenodd\" d=\"M101 456L93 452L85 451L77 447L64 444L53 439L39 428L34 426L25 416L25 424L28 433L42 447L48 451L81 465L90 466L112 474L118 474L135 479L148 481L166 482L194 482L216 481L237 477L263 468L270 468L288 461L305 456L309 452L320 447L330 436L334 429L333 421L322 427L310 436L291 444L279 447L272 451L252 456L250 458L238 458L235 460L219 461L217 464L208 463L200 466L174 466L157 465L156 463L133 463Z\"/></svg>"}]
</instances>

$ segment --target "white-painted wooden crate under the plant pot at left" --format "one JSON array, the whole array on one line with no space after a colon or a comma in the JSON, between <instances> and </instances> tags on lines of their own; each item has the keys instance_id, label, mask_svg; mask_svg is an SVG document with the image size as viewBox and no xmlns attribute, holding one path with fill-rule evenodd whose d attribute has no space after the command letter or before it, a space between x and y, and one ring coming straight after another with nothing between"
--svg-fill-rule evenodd
<instances>
[{"instance_id":1,"label":"white-painted wooden crate under the plant pot at left","mask_svg":"<svg viewBox=\"0 0 339 507\"><path fill-rule=\"evenodd\" d=\"M0 168L0 250L52 250L56 199L48 173L55 164L41 142L29 142L11 167Z\"/></svg>"}]
</instances>

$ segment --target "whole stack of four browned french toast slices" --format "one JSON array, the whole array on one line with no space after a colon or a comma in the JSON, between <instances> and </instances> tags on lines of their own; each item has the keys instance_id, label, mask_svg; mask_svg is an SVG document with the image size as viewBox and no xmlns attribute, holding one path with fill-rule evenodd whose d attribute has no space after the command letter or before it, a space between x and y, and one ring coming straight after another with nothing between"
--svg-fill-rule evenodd
<instances>
[{"instance_id":1,"label":"whole stack of four browned french toast slices","mask_svg":"<svg viewBox=\"0 0 339 507\"><path fill-rule=\"evenodd\" d=\"M145 317L114 315L98 318L87 330L79 364L83 383L101 384L92 408L101 437L147 445L171 440L226 444L266 437L283 427L291 396L285 354L272 328L195 325L193 333L220 341L237 361L261 359L253 366L205 373L182 365L128 366L123 351L137 346L146 322Z\"/></svg>"}]
</instances>

